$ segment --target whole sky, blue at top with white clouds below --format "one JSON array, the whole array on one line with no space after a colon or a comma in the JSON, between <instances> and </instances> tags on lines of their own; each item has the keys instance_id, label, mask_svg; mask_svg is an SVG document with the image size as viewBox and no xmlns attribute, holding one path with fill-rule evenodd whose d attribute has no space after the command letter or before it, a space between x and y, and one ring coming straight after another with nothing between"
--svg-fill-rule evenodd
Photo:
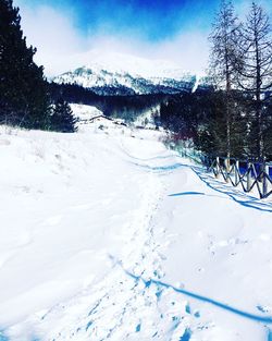
<instances>
[{"instance_id":1,"label":"whole sky, blue at top with white clouds below","mask_svg":"<svg viewBox=\"0 0 272 341\"><path fill-rule=\"evenodd\" d=\"M258 0L271 12L271 0ZM244 15L251 0L234 0ZM73 69L99 49L171 60L188 71L208 64L207 37L220 0L14 0L28 44L48 74Z\"/></svg>"}]
</instances>

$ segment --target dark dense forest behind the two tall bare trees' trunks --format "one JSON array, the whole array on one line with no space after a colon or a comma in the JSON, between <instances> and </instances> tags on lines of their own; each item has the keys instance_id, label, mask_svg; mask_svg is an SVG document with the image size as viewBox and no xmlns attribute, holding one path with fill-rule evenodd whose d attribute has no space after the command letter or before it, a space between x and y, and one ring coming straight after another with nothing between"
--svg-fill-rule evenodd
<instances>
[{"instance_id":1,"label":"dark dense forest behind the two tall bare trees' trunks","mask_svg":"<svg viewBox=\"0 0 272 341\"><path fill-rule=\"evenodd\" d=\"M227 156L240 159L259 159L259 142L256 137L256 117L252 114L251 96L233 90L233 114L228 122L230 145L226 134L223 90L196 92L172 96L161 105L161 124L171 132L173 143L190 145L206 156ZM263 155L272 160L272 98L267 94L263 114ZM187 142L187 144L186 144Z\"/></svg>"}]
</instances>

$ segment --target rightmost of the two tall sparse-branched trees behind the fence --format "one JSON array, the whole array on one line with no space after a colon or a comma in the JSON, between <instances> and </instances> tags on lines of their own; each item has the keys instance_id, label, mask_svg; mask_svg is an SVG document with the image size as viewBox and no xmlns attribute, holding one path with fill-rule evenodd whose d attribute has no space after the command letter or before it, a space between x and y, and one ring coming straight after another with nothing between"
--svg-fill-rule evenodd
<instances>
[{"instance_id":1,"label":"rightmost of the two tall sparse-branched trees behind the fence","mask_svg":"<svg viewBox=\"0 0 272 341\"><path fill-rule=\"evenodd\" d=\"M265 126L265 94L272 89L272 38L269 16L255 2L244 25L240 50L244 61L239 70L239 84L251 96L249 148L255 156L263 158L267 145L264 138L269 135Z\"/></svg>"}]
</instances>

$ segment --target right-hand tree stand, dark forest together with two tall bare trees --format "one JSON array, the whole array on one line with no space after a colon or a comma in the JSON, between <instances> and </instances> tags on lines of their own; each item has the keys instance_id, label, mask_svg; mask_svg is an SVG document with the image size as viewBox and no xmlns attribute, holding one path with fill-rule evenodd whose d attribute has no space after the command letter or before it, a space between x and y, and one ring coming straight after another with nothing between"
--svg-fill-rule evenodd
<instances>
[{"instance_id":1,"label":"right-hand tree stand, dark forest together with two tall bare trees","mask_svg":"<svg viewBox=\"0 0 272 341\"><path fill-rule=\"evenodd\" d=\"M269 15L252 2L244 22L223 0L209 37L213 90L161 108L174 139L206 155L272 160L272 38Z\"/></svg>"}]
</instances>

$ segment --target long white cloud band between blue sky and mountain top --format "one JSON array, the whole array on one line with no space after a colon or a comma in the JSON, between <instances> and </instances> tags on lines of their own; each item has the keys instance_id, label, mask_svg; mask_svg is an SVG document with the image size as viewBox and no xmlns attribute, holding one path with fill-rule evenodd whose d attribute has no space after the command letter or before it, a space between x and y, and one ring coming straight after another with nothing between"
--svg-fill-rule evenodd
<instances>
[{"instance_id":1,"label":"long white cloud band between blue sky and mountain top","mask_svg":"<svg viewBox=\"0 0 272 341\"><path fill-rule=\"evenodd\" d=\"M99 59L109 52L170 60L191 72L201 72L207 66L207 36L200 32L180 33L171 40L157 44L132 35L109 36L89 32L84 36L76 28L71 13L45 5L27 7L24 0L17 0L16 4L21 9L27 44L37 47L35 60L45 66L48 76L88 64L94 56Z\"/></svg>"}]
</instances>

